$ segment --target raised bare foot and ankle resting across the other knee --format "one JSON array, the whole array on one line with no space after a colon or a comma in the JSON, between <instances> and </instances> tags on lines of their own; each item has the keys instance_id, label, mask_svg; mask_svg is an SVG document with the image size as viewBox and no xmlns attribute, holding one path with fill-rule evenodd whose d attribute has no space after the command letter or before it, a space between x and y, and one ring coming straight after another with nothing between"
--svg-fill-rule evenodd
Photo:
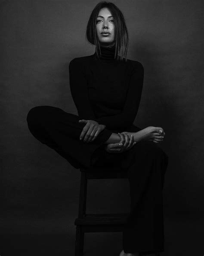
<instances>
[{"instance_id":1,"label":"raised bare foot and ankle resting across the other knee","mask_svg":"<svg viewBox=\"0 0 204 256\"><path fill-rule=\"evenodd\" d=\"M155 143L160 143L161 141L163 141L163 138L165 135L165 132L161 127L155 127L155 126L148 126L147 128L137 132L124 131L121 133L125 133L129 136L133 134L134 141L136 142L153 141Z\"/></svg>"}]
</instances>

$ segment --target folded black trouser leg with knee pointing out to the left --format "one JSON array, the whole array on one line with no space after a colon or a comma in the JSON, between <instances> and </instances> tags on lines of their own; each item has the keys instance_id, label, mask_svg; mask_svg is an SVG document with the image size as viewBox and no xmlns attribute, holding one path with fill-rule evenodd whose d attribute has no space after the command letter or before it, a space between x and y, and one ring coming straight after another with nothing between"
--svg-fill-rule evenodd
<instances>
[{"instance_id":1,"label":"folded black trouser leg with knee pointing out to the left","mask_svg":"<svg viewBox=\"0 0 204 256\"><path fill-rule=\"evenodd\" d=\"M75 168L89 167L94 151L102 146L112 132L104 129L97 138L86 143L79 140L85 124L77 115L53 106L36 106L27 115L31 134L43 144L53 148Z\"/></svg>"}]
</instances>

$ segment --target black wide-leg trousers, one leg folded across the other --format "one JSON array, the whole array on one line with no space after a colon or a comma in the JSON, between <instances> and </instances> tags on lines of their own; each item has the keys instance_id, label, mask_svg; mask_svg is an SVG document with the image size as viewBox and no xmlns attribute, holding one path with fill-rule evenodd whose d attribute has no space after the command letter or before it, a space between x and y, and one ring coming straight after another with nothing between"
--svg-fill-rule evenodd
<instances>
[{"instance_id":1,"label":"black wide-leg trousers, one leg folded across the other","mask_svg":"<svg viewBox=\"0 0 204 256\"><path fill-rule=\"evenodd\" d=\"M167 154L151 141L140 141L123 153L108 153L104 142L113 131L105 128L93 142L86 143L79 140L85 124L78 120L77 115L53 106L34 107L27 115L31 134L56 150L75 168L118 165L127 171L131 205L123 230L124 252L164 251L162 190Z\"/></svg>"}]
</instances>

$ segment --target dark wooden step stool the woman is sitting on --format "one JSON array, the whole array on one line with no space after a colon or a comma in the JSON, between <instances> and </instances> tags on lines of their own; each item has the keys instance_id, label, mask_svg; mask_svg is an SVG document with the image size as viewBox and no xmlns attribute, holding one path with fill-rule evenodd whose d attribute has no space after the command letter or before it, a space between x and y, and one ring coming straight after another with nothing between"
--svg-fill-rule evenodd
<instances>
[{"instance_id":1,"label":"dark wooden step stool the woman is sitting on","mask_svg":"<svg viewBox=\"0 0 204 256\"><path fill-rule=\"evenodd\" d=\"M79 214L75 220L75 256L83 256L85 232L121 232L128 214L86 214L87 179L124 179L127 173L118 168L80 168Z\"/></svg>"}]
</instances>

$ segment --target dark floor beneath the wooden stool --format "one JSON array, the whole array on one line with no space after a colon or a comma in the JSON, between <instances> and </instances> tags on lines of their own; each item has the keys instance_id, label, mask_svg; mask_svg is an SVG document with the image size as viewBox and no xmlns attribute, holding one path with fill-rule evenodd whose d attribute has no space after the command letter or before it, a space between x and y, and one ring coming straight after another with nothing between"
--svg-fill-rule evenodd
<instances>
[{"instance_id":1,"label":"dark floor beneath the wooden stool","mask_svg":"<svg viewBox=\"0 0 204 256\"><path fill-rule=\"evenodd\" d=\"M74 256L75 226L66 216L0 220L0 256ZM70 224L72 223L72 224ZM165 251L161 256L203 256L204 218L165 217ZM84 256L119 256L122 233L87 233Z\"/></svg>"}]
</instances>

